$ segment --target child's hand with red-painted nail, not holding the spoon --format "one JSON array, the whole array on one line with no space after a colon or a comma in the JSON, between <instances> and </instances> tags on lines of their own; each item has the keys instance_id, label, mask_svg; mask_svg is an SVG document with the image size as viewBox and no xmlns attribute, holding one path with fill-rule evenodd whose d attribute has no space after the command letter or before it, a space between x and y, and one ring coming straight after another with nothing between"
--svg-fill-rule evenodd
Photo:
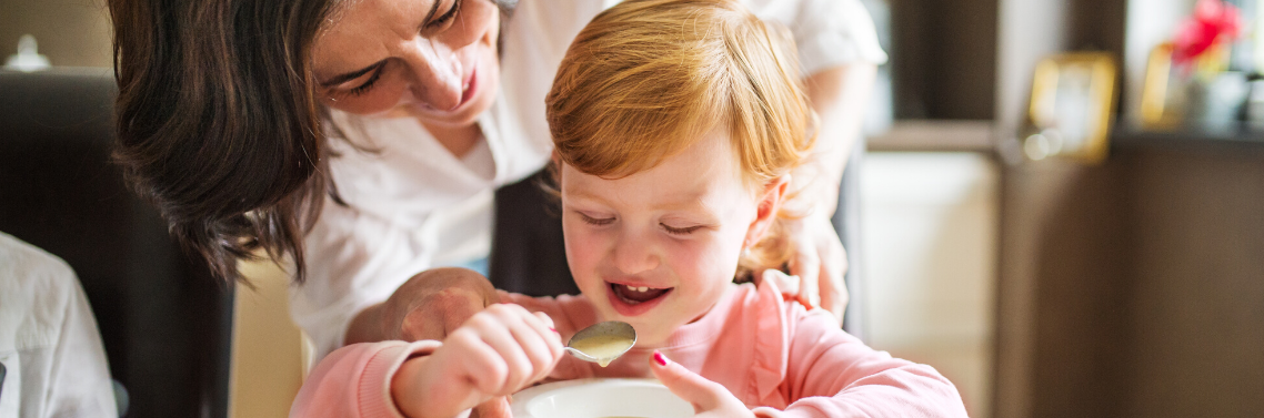
<instances>
[{"instance_id":1,"label":"child's hand with red-painted nail, not holding the spoon","mask_svg":"<svg viewBox=\"0 0 1264 418\"><path fill-rule=\"evenodd\" d=\"M671 393L694 405L694 417L755 417L755 413L723 385L689 371L659 351L650 357L650 370Z\"/></svg>"}]
</instances>

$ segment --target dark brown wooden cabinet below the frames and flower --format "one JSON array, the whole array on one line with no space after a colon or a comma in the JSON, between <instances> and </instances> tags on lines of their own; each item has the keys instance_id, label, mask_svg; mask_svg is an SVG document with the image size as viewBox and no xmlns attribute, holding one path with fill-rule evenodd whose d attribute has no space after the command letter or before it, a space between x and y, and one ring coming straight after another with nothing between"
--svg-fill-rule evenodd
<instances>
[{"instance_id":1,"label":"dark brown wooden cabinet below the frames and flower","mask_svg":"<svg viewBox=\"0 0 1264 418\"><path fill-rule=\"evenodd\" d=\"M1264 415L1264 143L1002 179L997 417Z\"/></svg>"}]
</instances>

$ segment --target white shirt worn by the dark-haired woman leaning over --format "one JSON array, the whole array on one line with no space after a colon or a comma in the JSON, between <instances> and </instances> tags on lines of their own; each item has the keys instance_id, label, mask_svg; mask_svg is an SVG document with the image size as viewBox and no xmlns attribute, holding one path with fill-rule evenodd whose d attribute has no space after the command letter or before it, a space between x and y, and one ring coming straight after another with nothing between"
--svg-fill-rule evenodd
<instances>
[{"instance_id":1,"label":"white shirt worn by the dark-haired woman leaning over","mask_svg":"<svg viewBox=\"0 0 1264 418\"><path fill-rule=\"evenodd\" d=\"M545 167L552 140L545 96L571 39L617 0L521 0L501 34L501 90L479 120L485 152L455 158L416 120L340 111L332 122L373 153L331 141L330 163L350 207L327 201L305 240L307 283L292 288L291 313L317 347L343 345L351 318L386 301L412 275L490 251L495 187ZM747 0L761 19L785 24L804 73L886 61L858 0ZM349 128L350 126L350 128Z\"/></svg>"}]
</instances>

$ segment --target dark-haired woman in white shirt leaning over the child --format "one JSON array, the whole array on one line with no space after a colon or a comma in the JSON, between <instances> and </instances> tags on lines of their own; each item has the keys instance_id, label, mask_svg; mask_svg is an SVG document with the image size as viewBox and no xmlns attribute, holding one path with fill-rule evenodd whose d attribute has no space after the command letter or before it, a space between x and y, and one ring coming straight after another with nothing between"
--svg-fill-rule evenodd
<instances>
[{"instance_id":1,"label":"dark-haired woman in white shirt leaning over the child","mask_svg":"<svg viewBox=\"0 0 1264 418\"><path fill-rule=\"evenodd\" d=\"M434 268L485 256L492 191L549 159L545 93L611 4L522 0L502 25L489 0L110 0L116 155L220 277L260 248L291 258L292 314L320 356L439 338L494 292ZM795 173L823 181L791 234L801 283L781 288L841 316L828 216L885 56L857 0L748 5L791 28L827 150Z\"/></svg>"}]
</instances>

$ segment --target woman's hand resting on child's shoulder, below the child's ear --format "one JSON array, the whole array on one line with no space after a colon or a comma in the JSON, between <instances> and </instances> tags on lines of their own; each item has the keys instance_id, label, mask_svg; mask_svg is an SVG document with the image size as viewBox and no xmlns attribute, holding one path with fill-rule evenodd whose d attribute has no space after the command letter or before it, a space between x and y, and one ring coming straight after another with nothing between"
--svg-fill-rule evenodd
<instances>
[{"instance_id":1,"label":"woman's hand resting on child's shoulder, below the child's ear","mask_svg":"<svg viewBox=\"0 0 1264 418\"><path fill-rule=\"evenodd\" d=\"M786 235L794 248L790 275L776 275L777 288L809 309L824 308L843 322L847 309L847 250L843 249L833 224L823 216L808 216L786 222ZM756 274L762 279L763 274Z\"/></svg>"}]
</instances>

